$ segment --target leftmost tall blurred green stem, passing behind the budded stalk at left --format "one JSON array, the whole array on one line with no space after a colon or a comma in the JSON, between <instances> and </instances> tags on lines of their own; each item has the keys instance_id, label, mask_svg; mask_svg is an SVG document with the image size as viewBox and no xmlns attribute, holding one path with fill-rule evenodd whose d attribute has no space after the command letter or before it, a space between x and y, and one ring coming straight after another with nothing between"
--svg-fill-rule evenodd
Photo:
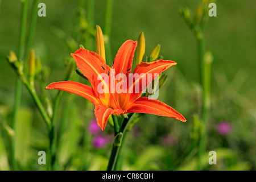
<instances>
[{"instance_id":1,"label":"leftmost tall blurred green stem, passing behind the budded stalk at left","mask_svg":"<svg viewBox=\"0 0 256 182\"><path fill-rule=\"evenodd\" d=\"M28 12L28 1L25 0L22 2L22 16L21 16L21 26L20 26L20 39L19 39L19 48L18 48L18 58L23 60L24 57L24 47L25 47L25 38L26 38L26 24L27 24L27 12ZM14 103L14 113L13 113L13 129L16 129L16 122L18 119L18 111L20 107L22 96L22 82L17 78L16 80L16 89L15 89L15 103ZM12 147L12 159L13 159L13 169L17 169L16 159L14 156L15 151L15 136L13 138L13 147Z\"/></svg>"}]
</instances>

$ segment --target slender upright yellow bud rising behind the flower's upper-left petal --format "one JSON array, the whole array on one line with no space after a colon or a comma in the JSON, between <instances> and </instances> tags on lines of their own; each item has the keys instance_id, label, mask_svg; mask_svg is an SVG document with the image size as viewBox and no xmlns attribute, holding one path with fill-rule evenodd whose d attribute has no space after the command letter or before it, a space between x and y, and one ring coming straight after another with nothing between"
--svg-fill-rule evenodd
<instances>
[{"instance_id":1,"label":"slender upright yellow bud rising behind the flower's upper-left petal","mask_svg":"<svg viewBox=\"0 0 256 182\"><path fill-rule=\"evenodd\" d=\"M96 52L106 62L104 38L103 38L101 27L98 25L96 26Z\"/></svg>"}]
</instances>

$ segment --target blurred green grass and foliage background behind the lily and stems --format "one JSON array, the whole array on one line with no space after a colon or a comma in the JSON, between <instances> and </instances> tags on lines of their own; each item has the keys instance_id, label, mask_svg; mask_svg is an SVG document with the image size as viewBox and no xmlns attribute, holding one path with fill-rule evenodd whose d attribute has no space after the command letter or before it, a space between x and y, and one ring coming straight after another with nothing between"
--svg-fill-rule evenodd
<instances>
[{"instance_id":1,"label":"blurred green grass and foliage background behind the lily and stems","mask_svg":"<svg viewBox=\"0 0 256 182\"><path fill-rule=\"evenodd\" d=\"M10 50L18 52L21 3L18 0L0 1L0 169L11 169L10 159L11 117L14 106L16 75L6 61ZM47 84L61 81L65 75L65 60L83 44L96 51L94 40L68 46L79 40L79 6L86 2L71 0L39 1L46 3L46 17L38 17L33 48L43 65L49 68ZM197 145L188 152L192 141L198 139L196 114L200 108L201 89L197 43L191 30L179 15L180 7L195 12L201 1L114 1L110 32L111 56L127 39L136 40L139 32L146 37L146 55L156 44L161 45L160 55L174 60L177 65L166 71L168 80L160 90L159 100L174 107L187 119L144 115L127 140L122 169L181 170L196 169ZM89 24L100 25L104 32L106 1L94 1L94 14ZM217 17L209 17L205 39L206 48L214 57L210 118L207 123L207 149L204 155L205 170L256 169L256 2L216 1ZM30 1L31 7L31 1ZM29 23L29 21L28 21ZM73 44L71 44L73 45ZM108 60L112 63L113 60ZM76 74L73 79L83 82ZM40 93L40 90L39 90ZM49 91L53 98L57 92ZM57 156L60 169L98 170L108 163L111 142L97 149L93 136L88 134L88 123L93 105L79 96L64 93L58 119ZM194 119L193 119L194 117ZM229 122L232 131L220 134L220 122ZM43 170L37 163L38 151L46 150L47 130L26 88L23 87L22 106L19 112L20 130L17 131L15 151L19 169ZM107 125L103 135L113 138ZM168 139L166 139L168 138ZM164 142L168 140L169 142ZM170 142L171 141L171 142ZM217 165L209 165L208 152L217 152Z\"/></svg>"}]
</instances>

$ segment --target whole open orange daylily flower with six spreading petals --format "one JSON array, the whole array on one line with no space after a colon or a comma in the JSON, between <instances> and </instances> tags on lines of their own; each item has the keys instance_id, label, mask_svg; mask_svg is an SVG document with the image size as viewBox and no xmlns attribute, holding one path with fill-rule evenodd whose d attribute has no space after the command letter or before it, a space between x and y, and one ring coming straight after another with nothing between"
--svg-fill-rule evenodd
<instances>
[{"instance_id":1,"label":"whole open orange daylily flower with six spreading petals","mask_svg":"<svg viewBox=\"0 0 256 182\"><path fill-rule=\"evenodd\" d=\"M132 85L135 86L135 83L139 83L139 93L98 92L98 84L104 80L103 78L98 80L98 76L101 73L107 75L117 75L118 73L122 73L127 76L131 73L136 46L137 42L134 42L133 40L127 40L123 43L115 56L112 68L110 68L109 65L106 65L104 59L97 53L86 49L78 49L75 53L71 53L71 56L75 59L77 67L83 75L88 78L92 86L75 81L60 81L49 84L46 89L64 90L66 92L77 94L92 102L92 104L95 105L94 114L97 118L98 126L100 126L102 130L105 129L106 122L111 114L148 113L175 118L185 122L186 119L171 106L158 100L149 100L148 97L141 97L143 91L141 89L142 77L134 80L134 84ZM151 63L141 62L134 69L133 74L138 73L141 75L141 73L143 73L143 76L148 79L148 76L154 75L153 73L162 73L175 64L174 61L168 60L152 61ZM115 73L112 73L113 70ZM152 76L151 80L154 80L154 78L155 77ZM127 78L127 82L128 80L129 77ZM115 80L114 86L117 85L118 82L119 81ZM111 86L113 86L113 84L109 83L108 85L109 88L104 87L104 89L110 90ZM127 88L127 90L129 90L129 88Z\"/></svg>"}]
</instances>

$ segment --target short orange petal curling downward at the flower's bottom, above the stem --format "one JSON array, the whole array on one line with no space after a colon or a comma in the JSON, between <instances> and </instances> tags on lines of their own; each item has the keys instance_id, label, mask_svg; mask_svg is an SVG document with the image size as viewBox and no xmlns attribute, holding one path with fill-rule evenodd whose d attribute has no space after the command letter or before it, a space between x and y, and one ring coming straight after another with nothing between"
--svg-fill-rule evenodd
<instances>
[{"instance_id":1,"label":"short orange petal curling downward at the flower's bottom, above the stem","mask_svg":"<svg viewBox=\"0 0 256 182\"><path fill-rule=\"evenodd\" d=\"M97 119L98 126L101 127L101 130L103 131L106 127L106 122L109 119L109 116L114 113L116 115L122 114L125 111L121 109L112 109L100 105L96 105L94 109L94 114Z\"/></svg>"}]
</instances>

